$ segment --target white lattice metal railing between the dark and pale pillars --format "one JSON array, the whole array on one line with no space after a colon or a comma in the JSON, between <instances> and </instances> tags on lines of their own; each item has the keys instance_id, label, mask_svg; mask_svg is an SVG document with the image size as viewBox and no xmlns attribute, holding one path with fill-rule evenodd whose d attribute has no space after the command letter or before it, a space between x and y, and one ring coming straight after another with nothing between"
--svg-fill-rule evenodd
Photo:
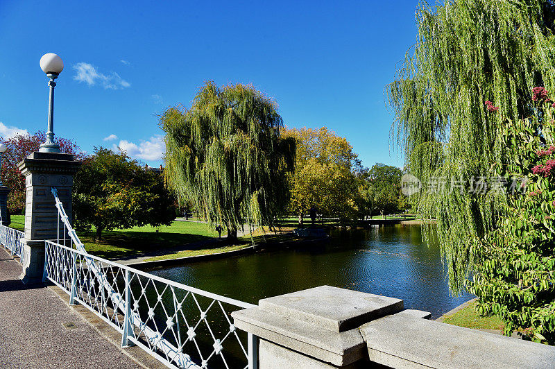
<instances>
[{"instance_id":1,"label":"white lattice metal railing between the dark and pale pillars","mask_svg":"<svg viewBox=\"0 0 555 369\"><path fill-rule=\"evenodd\" d=\"M58 239L45 241L44 279L66 291L70 304L83 304L121 332L121 345L138 345L171 368L257 368L257 337L230 318L255 305L90 255L55 188L52 194Z\"/></svg>"}]
</instances>

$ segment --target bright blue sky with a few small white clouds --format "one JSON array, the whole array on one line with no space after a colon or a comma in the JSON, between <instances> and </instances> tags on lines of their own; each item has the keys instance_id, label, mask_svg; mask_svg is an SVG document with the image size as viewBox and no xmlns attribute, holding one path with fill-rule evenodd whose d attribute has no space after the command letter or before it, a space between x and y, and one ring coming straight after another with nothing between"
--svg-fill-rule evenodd
<instances>
[{"instance_id":1,"label":"bright blue sky with a few small white clouds","mask_svg":"<svg viewBox=\"0 0 555 369\"><path fill-rule=\"evenodd\" d=\"M55 133L151 166L156 114L205 80L252 83L289 127L327 126L365 166L402 166L384 86L416 40L418 1L0 0L0 135L46 130L44 53L58 53Z\"/></svg>"}]
</instances>

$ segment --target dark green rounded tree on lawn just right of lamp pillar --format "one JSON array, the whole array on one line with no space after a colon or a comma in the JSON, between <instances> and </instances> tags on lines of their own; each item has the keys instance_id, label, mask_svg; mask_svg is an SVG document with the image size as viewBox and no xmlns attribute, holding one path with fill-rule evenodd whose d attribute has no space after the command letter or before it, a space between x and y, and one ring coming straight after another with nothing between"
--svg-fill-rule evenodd
<instances>
[{"instance_id":1,"label":"dark green rounded tree on lawn just right of lamp pillar","mask_svg":"<svg viewBox=\"0 0 555 369\"><path fill-rule=\"evenodd\" d=\"M125 153L95 148L74 178L74 220L78 230L104 230L135 225L169 225L176 218L173 196L160 173L139 166Z\"/></svg>"}]
</instances>

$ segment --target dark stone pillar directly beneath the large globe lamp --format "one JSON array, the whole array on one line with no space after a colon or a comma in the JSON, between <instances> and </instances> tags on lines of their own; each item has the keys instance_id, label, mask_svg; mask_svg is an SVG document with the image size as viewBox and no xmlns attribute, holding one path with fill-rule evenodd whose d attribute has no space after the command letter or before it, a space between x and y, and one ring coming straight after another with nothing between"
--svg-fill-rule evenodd
<instances>
[{"instance_id":1,"label":"dark stone pillar directly beneath the large globe lamp","mask_svg":"<svg viewBox=\"0 0 555 369\"><path fill-rule=\"evenodd\" d=\"M24 265L20 276L25 284L42 282L44 240L56 239L58 234L58 209L51 188L58 189L58 197L71 220L71 187L79 166L74 155L62 153L35 152L19 163L26 186Z\"/></svg>"}]
</instances>

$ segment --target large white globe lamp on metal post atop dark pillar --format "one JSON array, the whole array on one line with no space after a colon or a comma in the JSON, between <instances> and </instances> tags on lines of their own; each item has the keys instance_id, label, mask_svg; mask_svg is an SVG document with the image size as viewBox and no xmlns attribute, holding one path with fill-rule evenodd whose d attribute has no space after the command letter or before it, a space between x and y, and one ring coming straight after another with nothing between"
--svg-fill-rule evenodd
<instances>
[{"instance_id":1,"label":"large white globe lamp on metal post atop dark pillar","mask_svg":"<svg viewBox=\"0 0 555 369\"><path fill-rule=\"evenodd\" d=\"M50 100L48 105L48 131L46 132L46 141L40 145L40 153L60 153L60 146L54 143L54 87L58 78L58 74L64 70L64 62L55 53L47 53L40 58L40 69L50 78L48 85L50 86Z\"/></svg>"}]
</instances>

